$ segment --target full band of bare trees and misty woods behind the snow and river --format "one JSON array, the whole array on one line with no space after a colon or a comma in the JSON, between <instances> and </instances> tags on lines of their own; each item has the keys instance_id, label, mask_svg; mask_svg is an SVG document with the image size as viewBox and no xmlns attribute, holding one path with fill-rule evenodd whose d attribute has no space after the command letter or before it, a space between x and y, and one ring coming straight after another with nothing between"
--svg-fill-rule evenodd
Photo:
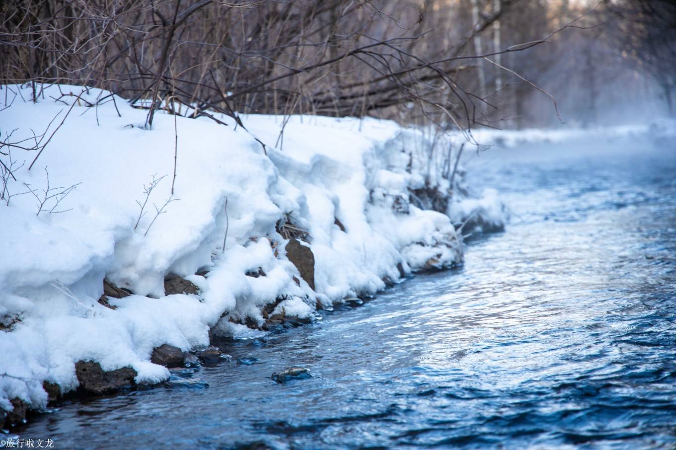
<instances>
[{"instance_id":1,"label":"full band of bare trees and misty woods behind the snow and river","mask_svg":"<svg viewBox=\"0 0 676 450\"><path fill-rule=\"evenodd\" d=\"M674 1L5 0L0 82L101 87L149 126L160 109L593 126L673 114Z\"/></svg>"}]
</instances>

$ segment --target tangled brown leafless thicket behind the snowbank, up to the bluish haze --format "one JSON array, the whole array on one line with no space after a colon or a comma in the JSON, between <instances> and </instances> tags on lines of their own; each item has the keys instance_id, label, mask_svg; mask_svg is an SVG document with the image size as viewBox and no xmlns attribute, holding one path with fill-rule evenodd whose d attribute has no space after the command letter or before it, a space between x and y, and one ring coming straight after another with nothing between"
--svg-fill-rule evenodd
<instances>
[{"instance_id":1,"label":"tangled brown leafless thicket behind the snowbank, up to the bluish haze","mask_svg":"<svg viewBox=\"0 0 676 450\"><path fill-rule=\"evenodd\" d=\"M532 32L510 25L515 6L535 11L521 19ZM511 113L496 97L537 84L523 72L546 42L540 11L534 0L5 2L0 82L28 82L32 101L45 83L97 86L145 109L146 128L160 111L238 127L249 113L500 126ZM518 52L531 53L501 59Z\"/></svg>"}]
</instances>

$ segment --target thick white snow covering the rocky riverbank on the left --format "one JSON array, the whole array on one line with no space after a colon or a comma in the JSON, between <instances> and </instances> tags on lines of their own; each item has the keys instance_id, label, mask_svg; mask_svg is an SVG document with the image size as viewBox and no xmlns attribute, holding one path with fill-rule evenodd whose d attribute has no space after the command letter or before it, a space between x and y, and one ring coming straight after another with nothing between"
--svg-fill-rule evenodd
<instances>
[{"instance_id":1,"label":"thick white snow covering the rocky riverbank on the left","mask_svg":"<svg viewBox=\"0 0 676 450\"><path fill-rule=\"evenodd\" d=\"M168 370L150 362L155 347L250 336L266 305L276 305L271 316L312 318L402 274L460 264L454 222L505 220L495 193L466 199L461 176L447 214L411 203L426 180L444 193L450 184L443 161L429 163L429 136L394 122L249 116L244 130L159 113L145 130L147 111L112 97L89 106L107 95L90 89L52 135L80 93L49 86L33 103L27 87L0 90L0 109L11 103L0 140L15 144L0 148L13 171L0 185L5 410L14 398L44 407L44 381L76 389L80 360L160 382ZM29 170L37 151L21 147L47 141ZM314 290L287 258L291 236L312 249ZM166 295L170 275L199 295ZM133 293L109 297L116 309L99 303L104 278Z\"/></svg>"}]
</instances>

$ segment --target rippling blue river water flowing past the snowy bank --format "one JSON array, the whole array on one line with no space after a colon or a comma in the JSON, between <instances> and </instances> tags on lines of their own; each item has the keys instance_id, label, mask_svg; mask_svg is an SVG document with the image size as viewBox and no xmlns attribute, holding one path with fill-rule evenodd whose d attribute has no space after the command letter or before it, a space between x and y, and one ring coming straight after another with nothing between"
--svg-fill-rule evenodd
<instances>
[{"instance_id":1,"label":"rippling blue river water flowing past the snowy bank","mask_svg":"<svg viewBox=\"0 0 676 450\"><path fill-rule=\"evenodd\" d=\"M676 147L629 141L469 153L470 186L497 188L512 221L470 241L463 268L223 341L231 362L64 405L20 435L92 449L675 448ZM312 378L270 380L293 365Z\"/></svg>"}]
</instances>

